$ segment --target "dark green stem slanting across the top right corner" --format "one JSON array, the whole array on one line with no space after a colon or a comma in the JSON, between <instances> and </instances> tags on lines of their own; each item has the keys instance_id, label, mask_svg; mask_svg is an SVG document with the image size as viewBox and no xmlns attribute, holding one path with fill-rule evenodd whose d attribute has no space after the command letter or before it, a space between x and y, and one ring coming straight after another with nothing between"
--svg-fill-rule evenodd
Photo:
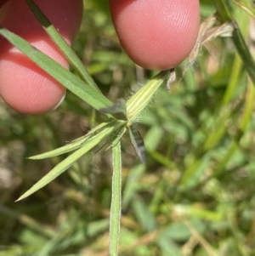
<instances>
[{"instance_id":1,"label":"dark green stem slanting across the top right corner","mask_svg":"<svg viewBox=\"0 0 255 256\"><path fill-rule=\"evenodd\" d=\"M246 68L248 75L251 77L253 85L255 86L255 62L252 59L252 55L250 54L249 49L246 46L245 40L241 35L241 31L239 29L238 24L233 19L229 6L225 3L224 0L212 0L215 8L218 12L218 18L222 23L231 22L234 30L232 34L232 41L235 44L235 48L238 51L238 54L241 57L243 65Z\"/></svg>"}]
</instances>

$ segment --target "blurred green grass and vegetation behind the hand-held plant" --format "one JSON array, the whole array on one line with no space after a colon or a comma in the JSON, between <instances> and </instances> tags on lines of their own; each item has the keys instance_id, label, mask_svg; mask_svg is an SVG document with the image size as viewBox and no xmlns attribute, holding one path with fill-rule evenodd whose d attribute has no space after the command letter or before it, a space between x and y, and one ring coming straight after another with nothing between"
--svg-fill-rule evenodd
<instances>
[{"instance_id":1,"label":"blurred green grass and vegetation behind the hand-held plant","mask_svg":"<svg viewBox=\"0 0 255 256\"><path fill-rule=\"evenodd\" d=\"M238 1L236 1L238 2ZM255 22L232 10L254 56ZM201 1L201 19L213 14ZM123 53L107 1L84 4L73 48L112 101L155 72ZM120 255L255 255L254 88L230 38L161 88L137 122L148 154L122 140ZM71 93L57 111L24 116L0 102L0 255L108 255L111 152L82 158L26 200L14 201L64 159L27 160L86 134L104 117Z\"/></svg>"}]
</instances>

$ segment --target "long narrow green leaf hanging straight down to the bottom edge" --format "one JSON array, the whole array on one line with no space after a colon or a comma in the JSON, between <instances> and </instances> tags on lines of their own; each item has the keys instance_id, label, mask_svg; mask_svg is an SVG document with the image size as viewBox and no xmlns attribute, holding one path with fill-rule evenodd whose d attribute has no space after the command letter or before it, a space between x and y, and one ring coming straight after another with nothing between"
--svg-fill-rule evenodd
<instances>
[{"instance_id":1,"label":"long narrow green leaf hanging straight down to the bottom edge","mask_svg":"<svg viewBox=\"0 0 255 256\"><path fill-rule=\"evenodd\" d=\"M122 213L122 151L119 138L116 138L112 144L112 162L109 253L111 256L117 256Z\"/></svg>"}]
</instances>

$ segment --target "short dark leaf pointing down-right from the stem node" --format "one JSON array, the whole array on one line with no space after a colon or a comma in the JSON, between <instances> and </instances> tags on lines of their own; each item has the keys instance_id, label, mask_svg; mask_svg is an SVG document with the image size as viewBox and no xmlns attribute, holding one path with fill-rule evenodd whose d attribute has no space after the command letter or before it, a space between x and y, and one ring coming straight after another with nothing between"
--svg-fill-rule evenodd
<instances>
[{"instance_id":1,"label":"short dark leaf pointing down-right from the stem node","mask_svg":"<svg viewBox=\"0 0 255 256\"><path fill-rule=\"evenodd\" d=\"M139 130L133 125L129 128L129 136L133 144L133 148L139 156L140 161L145 165L146 164L146 151L144 147L144 139L139 133Z\"/></svg>"}]
</instances>

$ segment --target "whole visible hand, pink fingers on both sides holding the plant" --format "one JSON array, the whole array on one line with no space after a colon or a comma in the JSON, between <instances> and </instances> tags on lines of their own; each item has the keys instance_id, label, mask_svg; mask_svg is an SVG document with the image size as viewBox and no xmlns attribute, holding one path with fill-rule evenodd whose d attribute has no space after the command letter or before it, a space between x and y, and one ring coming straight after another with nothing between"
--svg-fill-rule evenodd
<instances>
[{"instance_id":1,"label":"whole visible hand, pink fingers on both sides holding the plant","mask_svg":"<svg viewBox=\"0 0 255 256\"><path fill-rule=\"evenodd\" d=\"M71 43L82 20L82 0L35 2ZM193 48L200 24L199 0L109 0L109 3L122 47L138 65L167 70L182 62ZM0 26L14 31L68 67L59 49L26 7L25 0L0 0ZM37 114L59 105L65 97L65 88L1 37L0 95L14 110Z\"/></svg>"}]
</instances>

